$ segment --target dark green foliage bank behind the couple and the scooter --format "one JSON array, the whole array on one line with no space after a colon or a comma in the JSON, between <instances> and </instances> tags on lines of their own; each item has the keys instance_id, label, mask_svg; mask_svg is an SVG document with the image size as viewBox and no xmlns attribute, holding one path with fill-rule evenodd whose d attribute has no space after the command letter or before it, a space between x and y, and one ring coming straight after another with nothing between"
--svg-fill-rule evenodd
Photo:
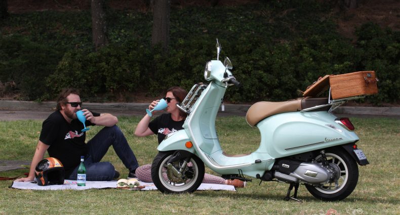
<instances>
[{"instance_id":1,"label":"dark green foliage bank behind the couple and the scooter","mask_svg":"<svg viewBox=\"0 0 400 215\"><path fill-rule=\"evenodd\" d=\"M152 14L107 11L109 45L94 52L90 11L10 14L0 23L2 94L20 100L51 100L64 87L89 101L132 101L129 95L159 95L172 85L202 82L207 61L233 63L243 88L230 88L232 103L281 101L325 74L375 70L379 94L371 103L400 98L400 32L365 23L356 39L337 32L329 1L260 1L223 7L173 7L170 53L151 48ZM12 84L10 84L12 83ZM350 86L351 87L351 86Z\"/></svg>"}]
</instances>

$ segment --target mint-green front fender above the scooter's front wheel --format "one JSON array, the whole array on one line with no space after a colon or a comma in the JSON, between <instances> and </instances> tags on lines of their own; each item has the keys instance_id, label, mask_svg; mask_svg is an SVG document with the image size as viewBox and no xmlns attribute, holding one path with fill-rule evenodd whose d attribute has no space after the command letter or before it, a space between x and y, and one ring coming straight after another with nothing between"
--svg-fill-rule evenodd
<instances>
[{"instance_id":1,"label":"mint-green front fender above the scooter's front wheel","mask_svg":"<svg viewBox=\"0 0 400 215\"><path fill-rule=\"evenodd\" d=\"M185 130L179 130L170 136L168 138L164 139L163 142L161 142L157 150L158 151L174 151L174 150L185 150L191 153L195 153L194 147L187 148L185 146L185 143L190 141L189 137L187 136Z\"/></svg>"}]
</instances>

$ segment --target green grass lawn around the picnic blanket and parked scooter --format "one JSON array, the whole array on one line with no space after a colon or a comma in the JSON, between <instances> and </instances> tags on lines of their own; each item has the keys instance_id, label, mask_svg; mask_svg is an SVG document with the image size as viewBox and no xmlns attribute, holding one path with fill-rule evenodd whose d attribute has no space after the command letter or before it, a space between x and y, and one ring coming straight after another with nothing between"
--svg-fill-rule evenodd
<instances>
[{"instance_id":1,"label":"green grass lawn around the picnic blanket and parked scooter","mask_svg":"<svg viewBox=\"0 0 400 215\"><path fill-rule=\"evenodd\" d=\"M118 125L126 134L140 164L150 163L156 154L156 137L133 135L139 117L121 117ZM361 139L357 145L370 162L359 166L359 181L353 193L339 202L323 202L300 186L303 203L284 201L287 184L254 180L248 187L232 191L197 191L166 195L158 191L117 189L85 191L32 191L8 188L0 181L0 214L326 214L332 208L340 214L399 214L400 206L400 121L389 118L352 118ZM0 159L31 160L42 121L0 121ZM244 117L217 120L222 148L227 153L246 153L258 147L257 128ZM92 126L88 138L100 127ZM103 160L111 161L126 177L128 170L112 149ZM1 172L18 176L28 169ZM209 173L211 170L208 169ZM355 211L358 210L358 213ZM362 212L361 212L362 211Z\"/></svg>"}]
</instances>

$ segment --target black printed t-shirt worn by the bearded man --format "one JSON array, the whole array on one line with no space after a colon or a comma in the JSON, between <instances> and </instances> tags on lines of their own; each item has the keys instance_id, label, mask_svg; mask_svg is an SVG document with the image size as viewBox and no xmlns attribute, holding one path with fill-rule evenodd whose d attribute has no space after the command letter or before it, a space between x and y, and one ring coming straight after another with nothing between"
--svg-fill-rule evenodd
<instances>
[{"instance_id":1,"label":"black printed t-shirt worn by the bearded man","mask_svg":"<svg viewBox=\"0 0 400 215\"><path fill-rule=\"evenodd\" d=\"M93 113L93 112L92 112ZM93 116L99 116L93 113ZM94 125L86 121L87 126ZM81 132L84 128L82 122L77 119L68 123L59 111L55 111L43 122L42 132L39 140L46 145L50 145L50 157L55 157L64 166L65 176L69 176L71 171L81 162L81 155L88 154L86 148L86 133Z\"/></svg>"}]
</instances>

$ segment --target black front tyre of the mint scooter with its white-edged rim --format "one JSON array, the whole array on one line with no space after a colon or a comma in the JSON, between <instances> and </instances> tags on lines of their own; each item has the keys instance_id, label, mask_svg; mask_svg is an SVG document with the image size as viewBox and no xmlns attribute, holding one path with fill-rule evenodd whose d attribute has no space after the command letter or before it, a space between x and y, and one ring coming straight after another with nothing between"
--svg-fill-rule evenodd
<instances>
[{"instance_id":1,"label":"black front tyre of the mint scooter with its white-edged rim","mask_svg":"<svg viewBox=\"0 0 400 215\"><path fill-rule=\"evenodd\" d=\"M151 178L155 187L162 193L192 193L202 184L205 168L204 163L197 156L190 159L193 176L183 183L174 183L176 178L167 174L167 161L174 151L158 152L151 164ZM174 162L178 164L180 161Z\"/></svg>"}]
</instances>

